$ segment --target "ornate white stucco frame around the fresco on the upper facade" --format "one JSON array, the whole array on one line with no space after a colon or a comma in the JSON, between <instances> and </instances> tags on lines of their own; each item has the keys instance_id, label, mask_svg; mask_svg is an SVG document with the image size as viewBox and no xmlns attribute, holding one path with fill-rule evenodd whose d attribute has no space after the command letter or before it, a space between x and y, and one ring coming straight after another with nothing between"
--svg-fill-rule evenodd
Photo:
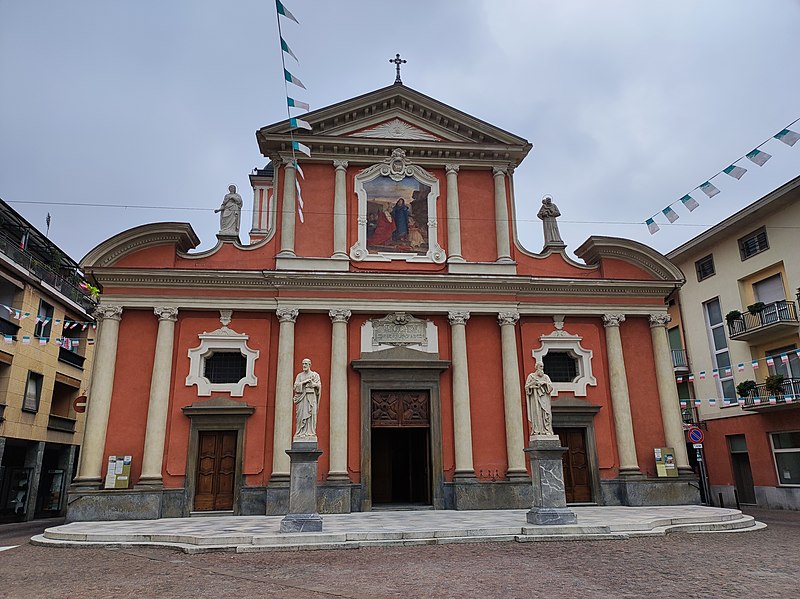
<instances>
[{"instance_id":1,"label":"ornate white stucco frame around the fresco on the upper facade","mask_svg":"<svg viewBox=\"0 0 800 599\"><path fill-rule=\"evenodd\" d=\"M402 181L406 177L413 177L431 188L428 194L428 251L425 255L405 252L370 253L367 249L367 191L364 189L364 184L378 177L390 177L393 181ZM422 167L411 164L406 159L405 151L396 148L392 155L380 164L374 164L358 173L354 182L355 191L358 195L358 240L350 248L350 258L358 262L404 260L406 262L434 262L436 264L443 264L447 260L447 255L439 245L437 235L436 202L439 199L439 179Z\"/></svg>"}]
</instances>

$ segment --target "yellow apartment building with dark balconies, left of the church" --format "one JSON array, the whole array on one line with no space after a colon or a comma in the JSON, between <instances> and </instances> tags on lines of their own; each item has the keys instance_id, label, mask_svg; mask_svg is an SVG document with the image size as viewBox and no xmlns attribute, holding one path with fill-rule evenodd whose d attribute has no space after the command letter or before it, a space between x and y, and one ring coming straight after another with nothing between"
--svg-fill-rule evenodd
<instances>
[{"instance_id":1,"label":"yellow apartment building with dark balconies, left of the church","mask_svg":"<svg viewBox=\"0 0 800 599\"><path fill-rule=\"evenodd\" d=\"M78 265L0 200L0 522L66 510L94 306Z\"/></svg>"}]
</instances>

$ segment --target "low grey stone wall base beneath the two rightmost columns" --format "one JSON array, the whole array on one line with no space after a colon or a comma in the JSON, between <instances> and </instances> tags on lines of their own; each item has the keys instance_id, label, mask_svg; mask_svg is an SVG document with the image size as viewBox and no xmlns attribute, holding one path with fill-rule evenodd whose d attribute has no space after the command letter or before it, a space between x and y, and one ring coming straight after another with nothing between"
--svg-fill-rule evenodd
<instances>
[{"instance_id":1,"label":"low grey stone wall base beneath the two rightmost columns","mask_svg":"<svg viewBox=\"0 0 800 599\"><path fill-rule=\"evenodd\" d=\"M615 478L600 481L600 505L700 505L696 478Z\"/></svg>"}]
</instances>

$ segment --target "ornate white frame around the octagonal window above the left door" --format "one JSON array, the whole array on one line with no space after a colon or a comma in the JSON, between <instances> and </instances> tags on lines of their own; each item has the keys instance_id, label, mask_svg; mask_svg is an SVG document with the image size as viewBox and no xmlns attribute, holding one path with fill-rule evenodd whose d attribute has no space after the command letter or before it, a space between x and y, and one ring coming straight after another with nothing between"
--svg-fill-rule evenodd
<instances>
[{"instance_id":1,"label":"ornate white frame around the octagonal window above the left door","mask_svg":"<svg viewBox=\"0 0 800 599\"><path fill-rule=\"evenodd\" d=\"M245 385L255 387L258 378L255 375L255 362L259 356L257 349L247 346L249 335L237 333L223 325L211 333L203 332L198 335L200 345L189 350L189 375L186 377L186 386L197 385L197 395L208 397L212 393L230 393L231 397L244 395ZM247 359L244 378L236 383L212 383L204 375L205 361L214 352L241 352Z\"/></svg>"}]
</instances>

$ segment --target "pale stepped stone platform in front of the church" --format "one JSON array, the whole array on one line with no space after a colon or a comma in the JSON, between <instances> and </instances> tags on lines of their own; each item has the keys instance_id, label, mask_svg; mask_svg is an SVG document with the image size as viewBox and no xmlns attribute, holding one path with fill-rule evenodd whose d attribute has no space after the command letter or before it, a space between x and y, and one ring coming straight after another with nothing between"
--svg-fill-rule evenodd
<instances>
[{"instance_id":1,"label":"pale stepped stone platform in front of the church","mask_svg":"<svg viewBox=\"0 0 800 599\"><path fill-rule=\"evenodd\" d=\"M357 549L498 541L594 541L764 528L739 510L696 505L573 507L577 524L536 526L526 510L378 511L324 516L319 533L281 533L281 516L72 522L31 539L48 547L166 547L184 553Z\"/></svg>"}]
</instances>

